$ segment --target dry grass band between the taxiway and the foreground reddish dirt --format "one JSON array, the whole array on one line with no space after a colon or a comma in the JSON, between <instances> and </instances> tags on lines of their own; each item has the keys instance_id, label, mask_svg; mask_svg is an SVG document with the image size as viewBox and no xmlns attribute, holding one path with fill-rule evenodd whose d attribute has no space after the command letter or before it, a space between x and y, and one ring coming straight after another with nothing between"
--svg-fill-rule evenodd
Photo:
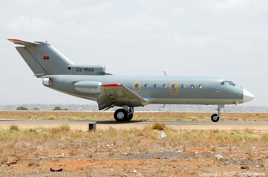
<instances>
[{"instance_id":1,"label":"dry grass band between the taxiway and the foreground reddish dirt","mask_svg":"<svg viewBox=\"0 0 268 177\"><path fill-rule=\"evenodd\" d=\"M14 127L16 126L14 125ZM165 130L167 137L159 140L157 138L158 131L162 129ZM114 156L124 153L129 154L130 152L148 152L151 151L149 147L156 149L162 147L174 151L174 148L176 149L182 145L187 148L208 147L211 151L216 151L216 148L210 146L220 144L226 140L228 140L226 141L228 146L236 146L236 144L239 146L241 142L244 142L244 144L267 142L267 137L267 133L256 135L248 129L236 131L235 134L218 129L209 131L177 130L158 122L152 126L144 127L144 129L121 130L110 127L109 129L91 132L71 131L68 125L63 124L56 128L42 128L41 131L40 128L38 128L38 131L36 129L18 129L12 132L1 129L0 140L4 144L1 145L0 151L8 148L12 149L13 154L21 156L22 154L31 154L38 151L37 147L43 146L44 149L69 149L68 153L72 156L79 154L79 150L77 150L79 148L91 149L89 151L91 155L89 156L94 156L94 152L100 151L106 151L110 156ZM150 143L141 143L147 141ZM150 146L148 146L149 144Z\"/></svg>"}]
</instances>

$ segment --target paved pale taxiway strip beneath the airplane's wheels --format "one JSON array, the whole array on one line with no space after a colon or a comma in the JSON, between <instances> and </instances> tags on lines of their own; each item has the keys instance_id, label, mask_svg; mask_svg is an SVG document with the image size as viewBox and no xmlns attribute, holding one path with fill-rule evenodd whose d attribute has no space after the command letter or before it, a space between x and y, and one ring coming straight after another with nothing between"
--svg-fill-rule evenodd
<instances>
[{"instance_id":1,"label":"paved pale taxiway strip beneath the airplane's wheels","mask_svg":"<svg viewBox=\"0 0 268 177\"><path fill-rule=\"evenodd\" d=\"M174 129L219 129L219 130L244 130L250 128L259 131L268 131L268 121L88 121L88 120L15 120L1 119L0 128L8 129L10 125L18 125L22 129L26 128L52 128L67 124L71 129L86 131L89 124L96 122L96 129L108 129L109 127L117 129L129 129L136 127L142 129L144 126L154 124L155 122L163 122L166 126Z\"/></svg>"}]
</instances>

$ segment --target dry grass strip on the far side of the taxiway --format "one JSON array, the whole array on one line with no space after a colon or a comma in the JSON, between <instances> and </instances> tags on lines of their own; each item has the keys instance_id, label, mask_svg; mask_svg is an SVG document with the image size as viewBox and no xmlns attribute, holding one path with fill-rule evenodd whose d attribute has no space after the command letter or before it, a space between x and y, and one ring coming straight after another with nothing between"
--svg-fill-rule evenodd
<instances>
[{"instance_id":1,"label":"dry grass strip on the far side of the taxiway","mask_svg":"<svg viewBox=\"0 0 268 177\"><path fill-rule=\"evenodd\" d=\"M0 111L0 119L114 120L112 111ZM215 112L135 112L132 120L211 121ZM223 112L220 121L268 121L268 113Z\"/></svg>"}]
</instances>

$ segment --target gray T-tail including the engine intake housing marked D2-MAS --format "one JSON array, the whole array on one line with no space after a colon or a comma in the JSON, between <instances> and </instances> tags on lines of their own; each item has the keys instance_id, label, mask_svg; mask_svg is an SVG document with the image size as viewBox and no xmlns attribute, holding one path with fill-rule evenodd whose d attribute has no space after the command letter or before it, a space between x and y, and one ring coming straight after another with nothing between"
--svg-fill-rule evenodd
<instances>
[{"instance_id":1,"label":"gray T-tail including the engine intake housing marked D2-MAS","mask_svg":"<svg viewBox=\"0 0 268 177\"><path fill-rule=\"evenodd\" d=\"M74 65L48 42L29 42L7 39L14 44L36 77L44 75L105 75L104 65Z\"/></svg>"}]
</instances>

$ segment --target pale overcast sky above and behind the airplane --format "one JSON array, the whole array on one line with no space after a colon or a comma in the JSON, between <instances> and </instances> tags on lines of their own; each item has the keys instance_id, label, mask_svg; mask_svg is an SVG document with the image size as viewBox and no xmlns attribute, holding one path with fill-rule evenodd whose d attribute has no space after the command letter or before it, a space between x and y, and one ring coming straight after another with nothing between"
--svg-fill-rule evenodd
<instances>
[{"instance_id":1,"label":"pale overcast sky above and behind the airplane","mask_svg":"<svg viewBox=\"0 0 268 177\"><path fill-rule=\"evenodd\" d=\"M8 38L48 41L114 75L208 75L268 106L268 1L10 0L0 6L0 104L96 104L42 85Z\"/></svg>"}]
</instances>

